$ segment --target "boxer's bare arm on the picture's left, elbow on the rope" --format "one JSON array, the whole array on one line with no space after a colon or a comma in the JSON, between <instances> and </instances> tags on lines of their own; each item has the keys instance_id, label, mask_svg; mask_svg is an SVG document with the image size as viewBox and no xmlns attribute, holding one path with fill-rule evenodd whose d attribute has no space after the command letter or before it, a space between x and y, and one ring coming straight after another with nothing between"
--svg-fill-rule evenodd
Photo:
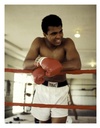
<instances>
[{"instance_id":1,"label":"boxer's bare arm on the picture's left, elbow on the rope","mask_svg":"<svg viewBox=\"0 0 100 128\"><path fill-rule=\"evenodd\" d=\"M40 48L40 39L36 38L32 44L31 47L26 55L26 58L24 60L23 63L23 68L24 69L31 69L34 70L35 68L37 68L37 66L35 66L35 59L38 57L39 55L39 48Z\"/></svg>"}]
</instances>

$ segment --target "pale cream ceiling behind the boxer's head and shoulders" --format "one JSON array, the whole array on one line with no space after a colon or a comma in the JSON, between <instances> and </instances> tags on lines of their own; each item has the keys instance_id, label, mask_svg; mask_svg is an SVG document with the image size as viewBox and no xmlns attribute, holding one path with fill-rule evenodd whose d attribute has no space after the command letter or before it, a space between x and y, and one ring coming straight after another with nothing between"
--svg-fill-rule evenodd
<instances>
[{"instance_id":1,"label":"pale cream ceiling behind the boxer's head and shoulders","mask_svg":"<svg viewBox=\"0 0 100 128\"><path fill-rule=\"evenodd\" d=\"M42 37L41 20L56 14L64 37L75 42L82 69L96 68L96 5L5 5L5 53L24 60L32 41ZM74 34L79 31L80 38Z\"/></svg>"}]
</instances>

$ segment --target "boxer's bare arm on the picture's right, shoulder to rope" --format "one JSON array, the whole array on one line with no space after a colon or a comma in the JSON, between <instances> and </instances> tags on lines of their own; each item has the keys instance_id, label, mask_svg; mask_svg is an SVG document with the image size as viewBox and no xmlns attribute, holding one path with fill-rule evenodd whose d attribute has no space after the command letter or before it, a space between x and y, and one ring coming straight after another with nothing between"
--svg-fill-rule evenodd
<instances>
[{"instance_id":1,"label":"boxer's bare arm on the picture's right, shoulder to rope","mask_svg":"<svg viewBox=\"0 0 100 128\"><path fill-rule=\"evenodd\" d=\"M66 61L62 63L63 71L68 70L79 70L81 69L81 60L79 53L77 52L74 42L67 38L65 44L65 51L66 51Z\"/></svg>"}]
</instances>

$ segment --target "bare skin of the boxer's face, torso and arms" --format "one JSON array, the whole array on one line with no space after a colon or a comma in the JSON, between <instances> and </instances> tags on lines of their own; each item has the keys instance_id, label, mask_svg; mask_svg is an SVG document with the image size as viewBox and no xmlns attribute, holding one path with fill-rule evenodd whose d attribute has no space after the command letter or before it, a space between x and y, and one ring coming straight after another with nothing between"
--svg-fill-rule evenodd
<instances>
[{"instance_id":1,"label":"bare skin of the boxer's face, torso and arms","mask_svg":"<svg viewBox=\"0 0 100 128\"><path fill-rule=\"evenodd\" d=\"M50 57L57 59L63 65L63 71L77 70L81 68L79 54L75 48L74 42L70 38L63 38L62 28L49 27L48 35L37 37L30 47L30 50L24 61L24 69L35 69L34 60L41 57ZM66 80L66 75L56 75L54 77L45 77L45 80L62 82Z\"/></svg>"}]
</instances>

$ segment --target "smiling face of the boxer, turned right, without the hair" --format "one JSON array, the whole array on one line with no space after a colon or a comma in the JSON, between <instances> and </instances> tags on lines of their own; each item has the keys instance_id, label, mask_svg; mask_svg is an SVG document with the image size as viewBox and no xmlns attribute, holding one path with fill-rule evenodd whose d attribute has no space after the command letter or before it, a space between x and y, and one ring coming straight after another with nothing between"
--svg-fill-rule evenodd
<instances>
[{"instance_id":1,"label":"smiling face of the boxer, turned right, without the hair","mask_svg":"<svg viewBox=\"0 0 100 128\"><path fill-rule=\"evenodd\" d=\"M48 32L45 35L45 37L47 38L49 43L51 43L52 45L54 45L54 46L60 45L61 42L62 42L62 38L63 38L62 27L61 26L58 26L58 27L50 26L50 27L48 27Z\"/></svg>"}]
</instances>

